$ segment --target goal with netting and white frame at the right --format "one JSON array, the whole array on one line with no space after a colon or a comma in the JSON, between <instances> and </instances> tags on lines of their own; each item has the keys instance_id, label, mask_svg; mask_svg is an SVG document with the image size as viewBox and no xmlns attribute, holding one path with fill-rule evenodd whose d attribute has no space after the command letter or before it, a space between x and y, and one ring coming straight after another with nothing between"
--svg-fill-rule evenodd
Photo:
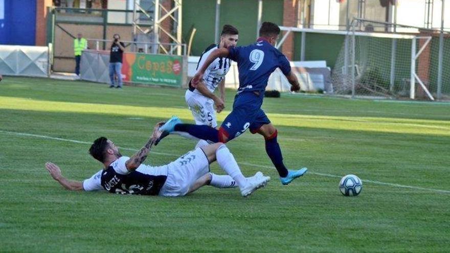
<instances>
[{"instance_id":1,"label":"goal with netting and white frame at the right","mask_svg":"<svg viewBox=\"0 0 450 253\"><path fill-rule=\"evenodd\" d=\"M364 32L357 32L357 31ZM445 36L438 82L439 31L354 20L333 72L335 94L450 99L450 38Z\"/></svg>"}]
</instances>

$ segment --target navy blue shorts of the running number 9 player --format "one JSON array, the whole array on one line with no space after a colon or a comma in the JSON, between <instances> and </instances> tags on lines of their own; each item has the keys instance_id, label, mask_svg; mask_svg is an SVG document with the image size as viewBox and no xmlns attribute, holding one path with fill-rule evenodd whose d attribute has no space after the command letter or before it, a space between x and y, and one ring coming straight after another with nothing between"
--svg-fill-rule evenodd
<instances>
[{"instance_id":1,"label":"navy blue shorts of the running number 9 player","mask_svg":"<svg viewBox=\"0 0 450 253\"><path fill-rule=\"evenodd\" d=\"M222 122L219 131L228 136L228 140L234 139L249 128L252 133L258 132L262 125L271 123L261 105L262 97L253 92L236 95L233 111Z\"/></svg>"}]
</instances>

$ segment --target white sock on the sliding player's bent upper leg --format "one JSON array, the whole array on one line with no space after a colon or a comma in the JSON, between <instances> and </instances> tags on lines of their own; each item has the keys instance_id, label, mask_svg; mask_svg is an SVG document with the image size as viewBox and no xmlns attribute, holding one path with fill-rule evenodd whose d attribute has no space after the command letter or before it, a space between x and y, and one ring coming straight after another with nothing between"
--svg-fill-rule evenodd
<instances>
[{"instance_id":1,"label":"white sock on the sliding player's bent upper leg","mask_svg":"<svg viewBox=\"0 0 450 253\"><path fill-rule=\"evenodd\" d=\"M227 148L227 146L222 145L217 149L216 159L220 168L222 168L223 171L227 172L227 174L236 181L239 188L242 189L245 186L247 179L244 177L244 175L242 175L242 172L239 169L239 166L237 165L233 154L230 153L230 150Z\"/></svg>"}]
</instances>

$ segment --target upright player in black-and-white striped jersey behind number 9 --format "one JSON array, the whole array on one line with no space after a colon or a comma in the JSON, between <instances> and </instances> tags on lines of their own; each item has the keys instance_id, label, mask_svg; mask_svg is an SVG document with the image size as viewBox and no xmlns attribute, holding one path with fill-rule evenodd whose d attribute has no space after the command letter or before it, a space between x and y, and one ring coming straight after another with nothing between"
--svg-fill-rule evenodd
<instances>
[{"instance_id":1,"label":"upright player in black-and-white striped jersey behind number 9","mask_svg":"<svg viewBox=\"0 0 450 253\"><path fill-rule=\"evenodd\" d=\"M220 35L219 44L211 44L201 54L197 64L197 70L202 67L209 54L218 48L235 47L238 41L238 30L230 25L224 25ZM195 124L217 127L216 111L223 110L225 100L225 76L230 70L231 60L225 57L215 59L207 67L204 79L196 87L189 82L189 89L186 90L186 103L192 111ZM220 97L214 95L214 91L219 87ZM215 107L215 109L214 109ZM196 147L205 146L208 143L200 140Z\"/></svg>"}]
</instances>

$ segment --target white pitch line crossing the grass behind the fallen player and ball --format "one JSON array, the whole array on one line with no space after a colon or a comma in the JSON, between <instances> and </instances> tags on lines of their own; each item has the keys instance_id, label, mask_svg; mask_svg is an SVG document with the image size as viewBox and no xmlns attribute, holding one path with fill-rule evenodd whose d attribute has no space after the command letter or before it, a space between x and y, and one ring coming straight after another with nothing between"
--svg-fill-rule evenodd
<instances>
[{"instance_id":1,"label":"white pitch line crossing the grass behind the fallen player and ball","mask_svg":"<svg viewBox=\"0 0 450 253\"><path fill-rule=\"evenodd\" d=\"M3 130L0 130L0 133L15 134L15 135L19 135L19 136L38 137L38 138L42 138L42 139L56 140L56 141L63 141L63 142L72 142L72 143L78 143L78 144L92 144L92 142L83 142L83 141L77 141L77 140L71 140L71 139L63 139L63 138L58 138L58 137L52 137L52 136L47 136L47 135L39 135L39 134L32 134L32 133L11 132L11 131L3 131ZM120 147L120 148L124 149L124 150L130 150L130 151L138 151L138 149L134 149L134 148L124 148L124 147ZM152 154L175 156L175 157L178 156L176 154L153 152L153 151L152 151ZM273 169L273 167L271 167L271 166L264 166L264 165L251 164L251 163L245 163L245 162L239 162L239 164L253 166L253 167L258 167L258 168ZM308 174L313 174L313 175L319 175L319 176L326 176L326 177L335 177L335 178L341 178L342 177L342 176L338 176L338 175L324 174L324 173L319 173L319 172L309 172L308 171L307 173ZM399 187L399 188L408 188L408 189L431 191L431 192L438 192L438 193L450 193L450 191L447 191L447 190L438 190L438 189L432 189L432 188L423 188L423 187L416 187L416 186L399 185L398 183L388 183L388 182L381 182L381 181L368 180L368 179L364 179L362 181L363 182L374 183L375 185L384 185L384 186L392 186L392 187Z\"/></svg>"}]
</instances>

